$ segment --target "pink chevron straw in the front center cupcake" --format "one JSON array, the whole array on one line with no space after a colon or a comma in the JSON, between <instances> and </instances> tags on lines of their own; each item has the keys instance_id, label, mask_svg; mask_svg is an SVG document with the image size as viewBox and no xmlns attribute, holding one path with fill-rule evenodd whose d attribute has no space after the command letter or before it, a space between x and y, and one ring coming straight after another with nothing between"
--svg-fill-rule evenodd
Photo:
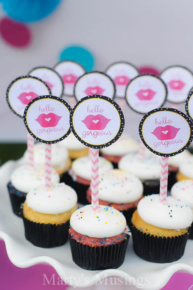
<instances>
[{"instance_id":1,"label":"pink chevron straw in the front center cupcake","mask_svg":"<svg viewBox=\"0 0 193 290\"><path fill-rule=\"evenodd\" d=\"M91 176L91 203L92 210L95 212L99 207L99 192L98 192L98 181L99 181L99 150L91 149L91 161L92 161L92 176Z\"/></svg>"}]
</instances>

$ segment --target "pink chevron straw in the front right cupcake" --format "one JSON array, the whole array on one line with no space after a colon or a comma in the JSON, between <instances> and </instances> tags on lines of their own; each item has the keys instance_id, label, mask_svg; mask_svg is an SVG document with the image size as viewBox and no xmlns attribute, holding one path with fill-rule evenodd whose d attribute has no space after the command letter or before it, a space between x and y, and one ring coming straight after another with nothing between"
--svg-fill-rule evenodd
<instances>
[{"instance_id":1,"label":"pink chevron straw in the front right cupcake","mask_svg":"<svg viewBox=\"0 0 193 290\"><path fill-rule=\"evenodd\" d=\"M159 200L162 204L167 201L168 157L162 156Z\"/></svg>"}]
</instances>

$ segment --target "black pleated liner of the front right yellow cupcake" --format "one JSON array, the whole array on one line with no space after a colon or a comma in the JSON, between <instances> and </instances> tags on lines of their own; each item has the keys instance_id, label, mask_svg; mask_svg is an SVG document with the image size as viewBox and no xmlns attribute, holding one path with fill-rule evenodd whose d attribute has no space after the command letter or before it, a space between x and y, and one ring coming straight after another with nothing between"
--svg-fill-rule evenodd
<instances>
[{"instance_id":1,"label":"black pleated liner of the front right yellow cupcake","mask_svg":"<svg viewBox=\"0 0 193 290\"><path fill-rule=\"evenodd\" d=\"M153 263L171 263L183 256L190 228L188 233L171 238L147 235L132 224L130 231L134 252L140 258Z\"/></svg>"}]
</instances>

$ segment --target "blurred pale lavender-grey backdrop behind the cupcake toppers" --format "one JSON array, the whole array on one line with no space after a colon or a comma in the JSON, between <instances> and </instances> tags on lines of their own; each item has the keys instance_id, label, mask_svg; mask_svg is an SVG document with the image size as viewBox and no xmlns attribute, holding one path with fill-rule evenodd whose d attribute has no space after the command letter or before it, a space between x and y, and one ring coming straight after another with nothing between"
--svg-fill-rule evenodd
<instances>
[{"instance_id":1,"label":"blurred pale lavender-grey backdrop behind the cupcake toppers","mask_svg":"<svg viewBox=\"0 0 193 290\"><path fill-rule=\"evenodd\" d=\"M119 60L158 71L174 64L193 69L191 0L0 3L0 143L26 142L22 119L6 103L9 83L36 66L54 67L68 46L86 48L94 59L92 69L101 71ZM185 111L184 104L179 108ZM125 131L139 140L141 115L126 108L125 119Z\"/></svg>"}]
</instances>

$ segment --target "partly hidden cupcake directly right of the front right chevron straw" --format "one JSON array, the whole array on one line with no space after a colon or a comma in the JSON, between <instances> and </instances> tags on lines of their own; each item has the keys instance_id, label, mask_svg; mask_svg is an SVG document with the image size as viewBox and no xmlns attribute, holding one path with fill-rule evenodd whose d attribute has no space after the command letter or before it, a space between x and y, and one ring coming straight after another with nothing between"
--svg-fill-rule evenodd
<instances>
[{"instance_id":1,"label":"partly hidden cupcake directly right of the front right chevron straw","mask_svg":"<svg viewBox=\"0 0 193 290\"><path fill-rule=\"evenodd\" d=\"M169 163L168 190L170 190L172 185L177 182L176 174L179 170L179 166L183 162L186 162L190 157L191 153L188 150L185 150L178 155L170 156L170 158L168 159Z\"/></svg>"}]
</instances>

